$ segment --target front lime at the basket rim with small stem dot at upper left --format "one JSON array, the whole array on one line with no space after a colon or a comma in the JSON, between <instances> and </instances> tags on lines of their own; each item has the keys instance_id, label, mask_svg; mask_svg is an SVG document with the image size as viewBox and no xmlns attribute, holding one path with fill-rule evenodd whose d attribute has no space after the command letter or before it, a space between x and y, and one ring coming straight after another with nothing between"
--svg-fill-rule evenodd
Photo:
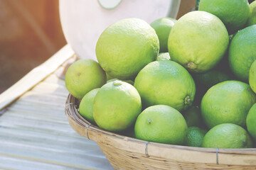
<instances>
[{"instance_id":1,"label":"front lime at the basket rim with small stem dot at upper left","mask_svg":"<svg viewBox=\"0 0 256 170\"><path fill-rule=\"evenodd\" d=\"M183 145L187 134L186 120L170 106L146 108L135 123L135 136L140 140Z\"/></svg>"}]
</instances>

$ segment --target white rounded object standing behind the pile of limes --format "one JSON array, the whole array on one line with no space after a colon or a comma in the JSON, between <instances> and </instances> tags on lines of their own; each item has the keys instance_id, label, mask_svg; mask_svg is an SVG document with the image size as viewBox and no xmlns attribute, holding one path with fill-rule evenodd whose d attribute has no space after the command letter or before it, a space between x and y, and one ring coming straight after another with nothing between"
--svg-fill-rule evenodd
<instances>
[{"instance_id":1,"label":"white rounded object standing behind the pile of limes","mask_svg":"<svg viewBox=\"0 0 256 170\"><path fill-rule=\"evenodd\" d=\"M105 28L122 18L176 18L181 0L60 0L60 21L68 44L81 59L97 60L95 47Z\"/></svg>"}]
</instances>

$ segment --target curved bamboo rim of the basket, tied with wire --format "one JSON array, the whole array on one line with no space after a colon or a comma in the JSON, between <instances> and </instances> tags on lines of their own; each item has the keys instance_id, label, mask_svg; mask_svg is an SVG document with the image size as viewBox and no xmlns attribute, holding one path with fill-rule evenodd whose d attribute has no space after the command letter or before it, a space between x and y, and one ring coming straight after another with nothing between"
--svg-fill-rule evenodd
<instances>
[{"instance_id":1,"label":"curved bamboo rim of the basket, tied with wire","mask_svg":"<svg viewBox=\"0 0 256 170\"><path fill-rule=\"evenodd\" d=\"M237 165L252 165L252 166L256 166L256 148L246 148L246 149L217 149L217 148L204 148L204 147L188 147L188 146L182 146L182 145L169 145L169 144L163 144L163 143L157 143L157 142L148 142L145 140L139 140L133 137L127 137L124 135L119 135L117 133L114 132L109 132L107 130L103 130L102 128L97 127L96 125L92 125L89 121L85 120L85 118L82 118L82 116L80 115L80 113L78 113L77 110L77 104L78 104L78 99L75 98L74 96L72 96L71 94L68 94L68 98L66 100L65 103L65 114L68 117L70 126L76 131L78 132L78 134L87 137L89 140L93 140L95 142L97 142L97 144L104 144L104 145L108 145L104 142L104 140L110 138L110 140L117 140L117 141L124 141L124 142L128 142L127 144L132 144L134 147L134 145L138 145L139 147L142 147L142 149L140 149L139 154L144 154L146 157L146 149L147 145L150 143L150 149L149 151L152 151L152 149L156 149L156 147L163 151L165 149L170 149L171 151L175 150L176 152L182 152L183 154L189 153L191 154L191 157L193 157L193 155L200 155L200 154L206 154L208 156L211 157L212 160L208 160L206 158L203 159L203 161L201 162L201 160L198 160L196 158L196 161L201 162L201 163L209 163L209 164L218 164L218 155L221 157L228 157L228 159L230 159L231 155L232 157L237 157L236 160L238 160L238 162L235 160L234 163L232 162L232 164L237 164ZM80 130L78 130L80 129ZM89 135L88 135L89 134ZM94 137L91 139L91 136L93 136L93 134L95 136L100 136L100 137ZM89 138L90 137L90 138ZM104 139L101 139L104 138ZM116 142L116 141L115 141ZM124 145L122 145L124 146ZM118 146L119 147L119 146ZM152 149L151 149L152 148ZM158 155L154 155L152 153L149 153L150 157L154 157L154 156L158 156ZM242 159L243 157L245 158L245 161L239 162L240 159ZM215 160L213 160L215 159ZM249 161L247 162L247 159L249 159ZM178 160L178 159L177 159ZM191 158L189 158L189 160L191 160ZM225 162L220 162L220 164L230 164L231 161L228 161L229 163Z\"/></svg>"}]
</instances>

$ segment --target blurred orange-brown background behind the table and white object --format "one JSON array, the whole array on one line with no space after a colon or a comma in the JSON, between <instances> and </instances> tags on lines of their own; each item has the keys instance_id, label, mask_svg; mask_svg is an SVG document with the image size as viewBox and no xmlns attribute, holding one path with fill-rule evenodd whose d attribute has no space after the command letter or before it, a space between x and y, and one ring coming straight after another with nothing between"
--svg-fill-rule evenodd
<instances>
[{"instance_id":1,"label":"blurred orange-brown background behind the table and white object","mask_svg":"<svg viewBox=\"0 0 256 170\"><path fill-rule=\"evenodd\" d=\"M181 0L177 19L195 6L195 0ZM0 23L1 94L67 42L58 0L0 0Z\"/></svg>"}]
</instances>

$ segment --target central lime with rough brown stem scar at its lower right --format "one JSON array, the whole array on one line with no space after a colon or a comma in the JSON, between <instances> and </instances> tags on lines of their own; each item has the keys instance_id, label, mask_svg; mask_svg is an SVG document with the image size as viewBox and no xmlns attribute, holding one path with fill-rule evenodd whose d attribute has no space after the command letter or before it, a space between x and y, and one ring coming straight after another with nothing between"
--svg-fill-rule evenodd
<instances>
[{"instance_id":1,"label":"central lime with rough brown stem scar at its lower right","mask_svg":"<svg viewBox=\"0 0 256 170\"><path fill-rule=\"evenodd\" d=\"M193 102L196 86L191 74L172 61L155 61L144 67L134 81L142 106L168 105L182 111Z\"/></svg>"}]
</instances>

